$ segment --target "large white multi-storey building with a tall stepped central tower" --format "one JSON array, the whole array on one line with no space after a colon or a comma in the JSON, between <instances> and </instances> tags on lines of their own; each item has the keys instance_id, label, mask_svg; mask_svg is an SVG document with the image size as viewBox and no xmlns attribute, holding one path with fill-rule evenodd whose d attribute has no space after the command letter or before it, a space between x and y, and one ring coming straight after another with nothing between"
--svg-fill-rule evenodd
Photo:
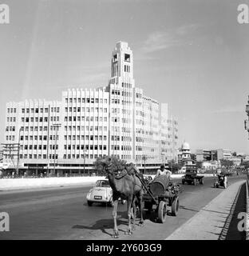
<instances>
[{"instance_id":1,"label":"large white multi-storey building with a tall stepped central tower","mask_svg":"<svg viewBox=\"0 0 249 256\"><path fill-rule=\"evenodd\" d=\"M113 50L108 86L65 90L61 102L9 102L6 108L5 142L20 144L21 169L85 172L96 158L117 155L156 170L177 155L177 122L167 104L135 87L126 42Z\"/></svg>"}]
</instances>

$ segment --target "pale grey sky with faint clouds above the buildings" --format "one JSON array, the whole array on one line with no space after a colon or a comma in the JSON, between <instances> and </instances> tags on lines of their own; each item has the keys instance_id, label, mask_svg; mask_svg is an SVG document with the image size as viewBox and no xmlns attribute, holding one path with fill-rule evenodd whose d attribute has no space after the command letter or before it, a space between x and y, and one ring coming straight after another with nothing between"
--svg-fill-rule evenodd
<instances>
[{"instance_id":1,"label":"pale grey sky with faint clouds above the buildings","mask_svg":"<svg viewBox=\"0 0 249 256\"><path fill-rule=\"evenodd\" d=\"M249 154L248 0L22 0L0 24L0 142L6 102L61 100L67 88L107 86L118 41L133 51L136 86L168 102L179 146Z\"/></svg>"}]
</instances>

